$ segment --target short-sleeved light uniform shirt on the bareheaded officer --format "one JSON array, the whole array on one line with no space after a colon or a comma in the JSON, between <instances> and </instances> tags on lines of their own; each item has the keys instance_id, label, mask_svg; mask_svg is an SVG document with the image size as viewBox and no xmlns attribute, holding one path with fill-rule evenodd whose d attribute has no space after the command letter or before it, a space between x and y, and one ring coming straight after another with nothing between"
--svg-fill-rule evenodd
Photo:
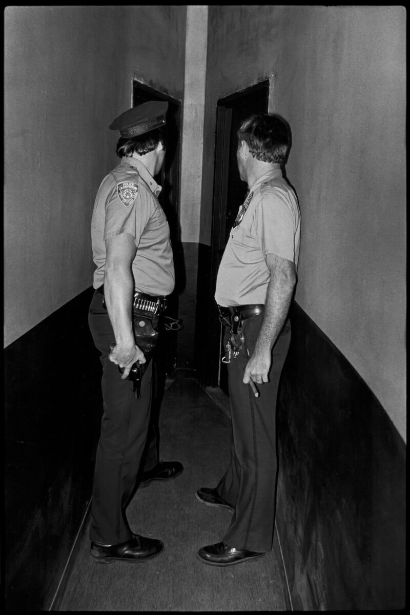
<instances>
[{"instance_id":1,"label":"short-sleeved light uniform shirt on the bareheaded officer","mask_svg":"<svg viewBox=\"0 0 410 615\"><path fill-rule=\"evenodd\" d=\"M221 306L265 303L270 272L266 255L286 258L298 268L301 220L296 194L280 165L250 188L242 221L231 229L216 279Z\"/></svg>"}]
</instances>

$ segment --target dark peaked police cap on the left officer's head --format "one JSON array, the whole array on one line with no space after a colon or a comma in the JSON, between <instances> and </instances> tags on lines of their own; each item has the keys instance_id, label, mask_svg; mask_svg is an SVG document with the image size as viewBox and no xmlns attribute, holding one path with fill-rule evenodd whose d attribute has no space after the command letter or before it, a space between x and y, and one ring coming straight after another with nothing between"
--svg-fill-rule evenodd
<instances>
[{"instance_id":1,"label":"dark peaked police cap on the left officer's head","mask_svg":"<svg viewBox=\"0 0 410 615\"><path fill-rule=\"evenodd\" d=\"M165 125L168 103L163 100L149 100L124 111L114 119L110 129L119 130L121 137L137 137L145 132Z\"/></svg>"}]
</instances>

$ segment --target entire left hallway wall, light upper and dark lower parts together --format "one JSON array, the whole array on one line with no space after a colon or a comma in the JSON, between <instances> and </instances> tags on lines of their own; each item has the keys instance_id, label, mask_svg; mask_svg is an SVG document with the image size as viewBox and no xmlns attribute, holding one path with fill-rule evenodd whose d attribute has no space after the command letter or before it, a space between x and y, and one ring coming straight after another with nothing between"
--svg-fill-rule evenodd
<instances>
[{"instance_id":1,"label":"entire left hallway wall, light upper and dark lower parts together","mask_svg":"<svg viewBox=\"0 0 410 615\"><path fill-rule=\"evenodd\" d=\"M181 100L185 22L184 6L6 8L9 610L53 605L90 501L103 410L90 221L119 161L108 126L133 79Z\"/></svg>"}]
</instances>

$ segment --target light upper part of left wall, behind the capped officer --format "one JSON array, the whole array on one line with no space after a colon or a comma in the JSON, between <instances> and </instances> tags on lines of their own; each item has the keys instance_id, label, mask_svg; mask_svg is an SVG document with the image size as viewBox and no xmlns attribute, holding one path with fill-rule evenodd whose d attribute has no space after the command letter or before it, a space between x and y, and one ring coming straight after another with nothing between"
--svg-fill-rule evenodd
<instances>
[{"instance_id":1,"label":"light upper part of left wall, behind the capped officer","mask_svg":"<svg viewBox=\"0 0 410 615\"><path fill-rule=\"evenodd\" d=\"M5 346L92 284L90 220L132 79L181 100L186 7L7 7ZM156 44L152 33L160 44Z\"/></svg>"}]
</instances>

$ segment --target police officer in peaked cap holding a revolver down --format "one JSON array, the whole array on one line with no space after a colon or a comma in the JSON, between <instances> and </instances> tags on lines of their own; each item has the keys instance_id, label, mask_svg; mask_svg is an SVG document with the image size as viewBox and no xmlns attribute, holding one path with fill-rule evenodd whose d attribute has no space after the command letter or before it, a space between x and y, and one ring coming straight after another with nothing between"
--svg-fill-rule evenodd
<instances>
[{"instance_id":1,"label":"police officer in peaked cap holding a revolver down","mask_svg":"<svg viewBox=\"0 0 410 615\"><path fill-rule=\"evenodd\" d=\"M150 421L151 356L175 286L170 230L154 180L165 157L167 108L167 102L149 101L112 122L110 129L120 132L121 162L102 181L93 208L97 269L89 325L101 353L104 411L90 539L100 563L145 561L162 552L162 541L133 533L125 509L139 477L146 483L183 472L179 462L159 461Z\"/></svg>"}]
</instances>

